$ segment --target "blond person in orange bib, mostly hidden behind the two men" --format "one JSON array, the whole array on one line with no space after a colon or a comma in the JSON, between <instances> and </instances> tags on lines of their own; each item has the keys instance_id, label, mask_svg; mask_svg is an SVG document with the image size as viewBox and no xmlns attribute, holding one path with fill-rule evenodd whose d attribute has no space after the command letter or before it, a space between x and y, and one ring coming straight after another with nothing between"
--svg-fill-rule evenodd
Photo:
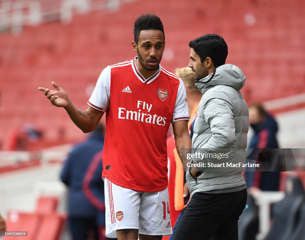
<instances>
[{"instance_id":1,"label":"blond person in orange bib, mostly hidden behind the two men","mask_svg":"<svg viewBox=\"0 0 305 240\"><path fill-rule=\"evenodd\" d=\"M177 68L176 75L181 78L186 90L186 97L188 99L188 112L191 113L190 121L188 122L188 130L192 134L191 125L195 121L197 114L197 108L199 101L202 97L201 92L195 86L195 79L192 70L189 67ZM167 139L167 152L170 162L169 169L169 181L168 181L168 193L170 199L170 218L171 224L174 227L173 234L170 235L170 240L174 239L174 234L183 215L184 208L189 200L189 194L183 197L183 186L186 183L185 171L181 160L178 156L178 152L175 146L174 136L170 136Z\"/></svg>"}]
</instances>

